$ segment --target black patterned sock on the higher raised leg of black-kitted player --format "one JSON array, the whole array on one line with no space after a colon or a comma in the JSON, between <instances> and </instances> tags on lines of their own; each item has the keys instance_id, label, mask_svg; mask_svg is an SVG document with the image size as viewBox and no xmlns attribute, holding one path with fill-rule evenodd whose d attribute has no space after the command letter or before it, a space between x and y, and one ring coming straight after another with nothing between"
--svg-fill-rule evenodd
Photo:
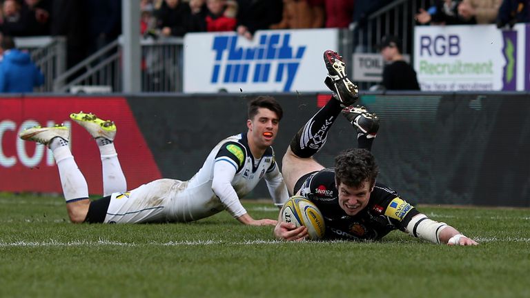
<instances>
[{"instance_id":1,"label":"black patterned sock on the higher raised leg of black-kitted player","mask_svg":"<svg viewBox=\"0 0 530 298\"><path fill-rule=\"evenodd\" d=\"M323 106L313 118L309 119L304 127L291 141L291 151L297 157L307 158L313 156L326 143L328 131L342 110L340 102L331 99Z\"/></svg>"}]
</instances>

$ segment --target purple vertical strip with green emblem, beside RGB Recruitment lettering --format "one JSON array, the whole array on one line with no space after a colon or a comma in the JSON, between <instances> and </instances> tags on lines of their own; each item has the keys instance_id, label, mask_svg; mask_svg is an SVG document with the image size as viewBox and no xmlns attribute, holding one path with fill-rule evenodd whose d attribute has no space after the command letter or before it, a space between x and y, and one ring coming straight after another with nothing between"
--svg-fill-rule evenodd
<instances>
[{"instance_id":1,"label":"purple vertical strip with green emblem, beside RGB Recruitment lettering","mask_svg":"<svg viewBox=\"0 0 530 298\"><path fill-rule=\"evenodd\" d=\"M502 55L506 65L502 71L502 90L516 90L517 88L517 31L502 31Z\"/></svg>"}]
</instances>

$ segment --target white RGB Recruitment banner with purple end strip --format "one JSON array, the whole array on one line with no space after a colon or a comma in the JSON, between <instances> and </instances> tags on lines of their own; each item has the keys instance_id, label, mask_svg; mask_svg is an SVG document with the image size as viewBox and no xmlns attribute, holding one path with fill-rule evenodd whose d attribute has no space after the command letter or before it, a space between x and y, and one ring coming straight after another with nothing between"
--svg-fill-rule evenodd
<instances>
[{"instance_id":1,"label":"white RGB Recruitment banner with purple end strip","mask_svg":"<svg viewBox=\"0 0 530 298\"><path fill-rule=\"evenodd\" d=\"M414 69L424 91L528 90L528 26L416 26Z\"/></svg>"}]
</instances>

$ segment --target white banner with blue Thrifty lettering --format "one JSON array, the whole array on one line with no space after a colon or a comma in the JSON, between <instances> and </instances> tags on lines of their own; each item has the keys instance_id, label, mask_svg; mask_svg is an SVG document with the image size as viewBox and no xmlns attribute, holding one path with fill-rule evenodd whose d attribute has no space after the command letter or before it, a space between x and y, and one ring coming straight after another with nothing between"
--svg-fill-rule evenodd
<instances>
[{"instance_id":1,"label":"white banner with blue Thrifty lettering","mask_svg":"<svg viewBox=\"0 0 530 298\"><path fill-rule=\"evenodd\" d=\"M322 54L337 50L338 30L258 31L252 41L230 33L184 38L184 92L327 90Z\"/></svg>"}]
</instances>

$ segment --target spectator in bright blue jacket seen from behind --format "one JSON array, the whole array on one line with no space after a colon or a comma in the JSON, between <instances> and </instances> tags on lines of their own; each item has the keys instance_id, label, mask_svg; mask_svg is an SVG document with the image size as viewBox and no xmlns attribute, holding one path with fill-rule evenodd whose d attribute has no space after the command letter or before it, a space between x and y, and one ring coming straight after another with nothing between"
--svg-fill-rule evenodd
<instances>
[{"instance_id":1,"label":"spectator in bright blue jacket seen from behind","mask_svg":"<svg viewBox=\"0 0 530 298\"><path fill-rule=\"evenodd\" d=\"M30 54L14 47L14 41L4 36L0 42L0 92L27 93L44 83L44 75L31 61Z\"/></svg>"}]
</instances>

